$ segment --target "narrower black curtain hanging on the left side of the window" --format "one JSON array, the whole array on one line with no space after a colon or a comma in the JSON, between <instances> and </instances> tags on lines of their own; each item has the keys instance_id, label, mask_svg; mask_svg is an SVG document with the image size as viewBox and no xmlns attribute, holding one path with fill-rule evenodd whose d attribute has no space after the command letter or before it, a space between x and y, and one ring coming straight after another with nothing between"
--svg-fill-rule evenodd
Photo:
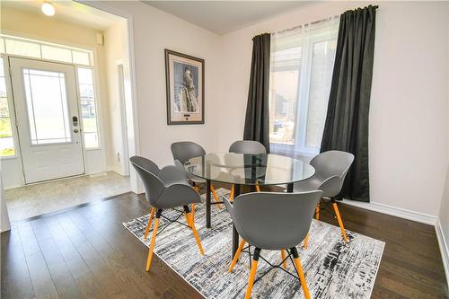
<instances>
[{"instance_id":1,"label":"narrower black curtain hanging on the left side of the window","mask_svg":"<svg viewBox=\"0 0 449 299\"><path fill-rule=\"evenodd\" d=\"M256 140L269 153L269 33L252 39L251 78L246 105L244 140Z\"/></svg>"}]
</instances>

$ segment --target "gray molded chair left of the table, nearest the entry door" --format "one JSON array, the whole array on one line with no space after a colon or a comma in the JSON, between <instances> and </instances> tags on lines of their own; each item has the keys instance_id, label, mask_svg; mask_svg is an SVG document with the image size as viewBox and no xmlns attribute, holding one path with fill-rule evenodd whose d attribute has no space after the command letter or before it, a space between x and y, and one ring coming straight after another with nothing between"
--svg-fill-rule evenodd
<instances>
[{"instance_id":1,"label":"gray molded chair left of the table, nearest the entry door","mask_svg":"<svg viewBox=\"0 0 449 299\"><path fill-rule=\"evenodd\" d=\"M193 218L189 211L189 205L201 202L201 198L199 198L198 193L194 189L191 189L182 165L177 163L176 165L165 166L156 174L155 172L159 170L159 167L157 167L151 160L140 156L133 156L129 161L136 169L140 179L142 179L145 187L146 200L153 207L145 234L148 233L153 221L154 211L156 214L153 236L148 251L148 259L146 260L146 271L149 271L151 267L159 218L161 217L163 210L168 208L184 208L183 213L186 216L187 225L193 232L201 255L204 255L197 229L195 228Z\"/></svg>"}]
</instances>

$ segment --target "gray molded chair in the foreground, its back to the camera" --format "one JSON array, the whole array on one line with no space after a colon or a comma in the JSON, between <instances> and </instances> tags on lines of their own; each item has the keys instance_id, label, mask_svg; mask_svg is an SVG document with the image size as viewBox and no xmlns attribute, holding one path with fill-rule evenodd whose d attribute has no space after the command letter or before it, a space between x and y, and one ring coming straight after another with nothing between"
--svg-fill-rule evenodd
<instances>
[{"instance_id":1,"label":"gray molded chair in the foreground, its back to the camera","mask_svg":"<svg viewBox=\"0 0 449 299\"><path fill-rule=\"evenodd\" d=\"M233 200L233 204L225 199L235 229L242 237L229 271L233 270L246 242L255 247L245 298L251 297L261 250L288 251L282 263L293 255L304 296L310 298L296 246L303 242L310 229L321 195L321 190L304 193L257 192L240 195Z\"/></svg>"}]
</instances>

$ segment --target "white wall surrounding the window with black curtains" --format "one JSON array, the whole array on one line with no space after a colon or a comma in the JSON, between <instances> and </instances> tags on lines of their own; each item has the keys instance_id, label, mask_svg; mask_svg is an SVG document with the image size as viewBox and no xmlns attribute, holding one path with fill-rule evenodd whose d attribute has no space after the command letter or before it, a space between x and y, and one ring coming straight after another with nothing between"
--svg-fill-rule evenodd
<instances>
[{"instance_id":1,"label":"white wall surrounding the window with black curtains","mask_svg":"<svg viewBox=\"0 0 449 299\"><path fill-rule=\"evenodd\" d=\"M223 37L220 147L242 138L251 38L321 20L365 3L317 4ZM371 201L438 215L448 162L447 3L381 2L370 110Z\"/></svg>"}]
</instances>

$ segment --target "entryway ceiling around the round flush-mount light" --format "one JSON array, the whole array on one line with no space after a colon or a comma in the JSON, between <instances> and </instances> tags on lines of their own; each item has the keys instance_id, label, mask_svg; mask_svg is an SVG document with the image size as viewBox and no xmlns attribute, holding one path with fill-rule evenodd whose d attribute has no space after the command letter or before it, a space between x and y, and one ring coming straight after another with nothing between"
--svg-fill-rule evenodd
<instances>
[{"instance_id":1,"label":"entryway ceiling around the round flush-mount light","mask_svg":"<svg viewBox=\"0 0 449 299\"><path fill-rule=\"evenodd\" d=\"M39 13L40 6L44 1L1 1L2 7L12 7L29 13ZM72 22L84 27L92 28L98 31L108 29L112 24L122 20L119 16L111 13L105 13L91 6L77 3L75 1L51 1L55 6L56 13L51 18Z\"/></svg>"}]
</instances>

